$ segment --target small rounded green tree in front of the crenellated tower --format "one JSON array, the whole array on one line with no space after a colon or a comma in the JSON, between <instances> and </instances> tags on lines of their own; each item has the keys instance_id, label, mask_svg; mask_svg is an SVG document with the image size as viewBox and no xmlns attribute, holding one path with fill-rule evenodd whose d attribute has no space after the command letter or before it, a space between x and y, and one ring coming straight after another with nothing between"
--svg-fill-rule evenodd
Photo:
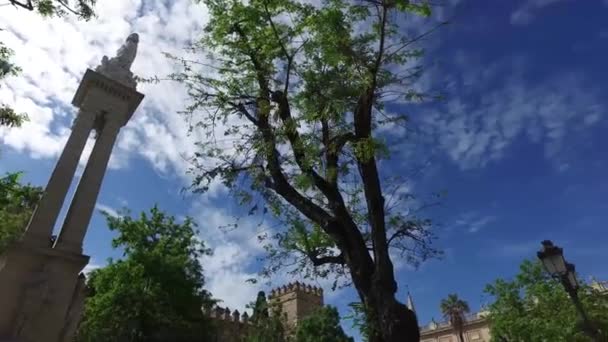
<instances>
[{"instance_id":1,"label":"small rounded green tree in front of the crenellated tower","mask_svg":"<svg viewBox=\"0 0 608 342\"><path fill-rule=\"evenodd\" d=\"M295 342L354 342L340 326L335 307L324 306L298 323Z\"/></svg>"}]
</instances>

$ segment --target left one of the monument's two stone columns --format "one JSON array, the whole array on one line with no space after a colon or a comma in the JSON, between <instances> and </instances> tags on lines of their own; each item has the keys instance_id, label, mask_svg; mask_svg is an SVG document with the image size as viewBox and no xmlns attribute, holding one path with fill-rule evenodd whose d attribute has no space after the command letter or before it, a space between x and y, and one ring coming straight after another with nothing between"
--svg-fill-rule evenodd
<instances>
[{"instance_id":1,"label":"left one of the monument's two stone columns","mask_svg":"<svg viewBox=\"0 0 608 342\"><path fill-rule=\"evenodd\" d=\"M34 210L27 227L24 241L36 245L48 245L53 227L65 201L78 161L87 143L95 121L95 113L80 110L72 126L72 133L59 156L40 203Z\"/></svg>"}]
</instances>

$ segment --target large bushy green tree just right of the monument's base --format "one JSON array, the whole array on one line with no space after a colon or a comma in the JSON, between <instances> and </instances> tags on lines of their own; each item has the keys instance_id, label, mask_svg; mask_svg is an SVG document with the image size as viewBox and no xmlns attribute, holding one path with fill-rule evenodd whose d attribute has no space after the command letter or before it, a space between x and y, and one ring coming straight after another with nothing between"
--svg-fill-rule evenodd
<instances>
[{"instance_id":1,"label":"large bushy green tree just right of the monument's base","mask_svg":"<svg viewBox=\"0 0 608 342\"><path fill-rule=\"evenodd\" d=\"M207 341L210 294L195 224L177 223L156 206L139 218L105 213L123 258L93 271L79 341Z\"/></svg>"}]
</instances>

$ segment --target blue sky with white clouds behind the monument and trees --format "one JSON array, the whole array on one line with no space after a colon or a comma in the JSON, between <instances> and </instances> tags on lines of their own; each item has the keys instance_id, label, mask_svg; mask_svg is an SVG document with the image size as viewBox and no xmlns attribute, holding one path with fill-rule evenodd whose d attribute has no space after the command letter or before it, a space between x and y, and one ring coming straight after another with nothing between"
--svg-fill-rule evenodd
<instances>
[{"instance_id":1,"label":"blue sky with white clouds behind the monument and trees","mask_svg":"<svg viewBox=\"0 0 608 342\"><path fill-rule=\"evenodd\" d=\"M28 25L3 8L8 30L0 39L16 50L25 77L9 80L0 99L30 113L32 122L0 130L0 172L23 170L27 181L44 184L69 133L74 112L68 104L85 68L137 31L142 45L135 71L170 70L158 51L177 51L206 18L185 0L172 7L139 0L99 7L100 19L87 24L20 12ZM421 323L440 318L439 302L448 293L478 310L488 301L484 286L515 274L543 239L563 246L582 277L608 279L608 3L452 1L442 16L451 23L424 42L429 68L423 83L446 100L390 106L411 113L414 133L409 148L383 167L429 161L412 177L412 188L421 195L447 192L440 207L426 212L438 223L445 257L417 270L398 268L400 298L409 287ZM146 99L121 133L98 207L138 212L158 203L174 215L193 216L217 252L205 264L211 290L241 309L258 290L243 282L259 269L255 220L221 233L217 224L238 213L221 189L204 198L180 193L188 182L180 154L192 149L173 114L182 89L140 89ZM85 243L93 265L117 256L110 240L96 214ZM327 282L319 284L330 292ZM353 300L350 290L327 296L343 312Z\"/></svg>"}]
</instances>

